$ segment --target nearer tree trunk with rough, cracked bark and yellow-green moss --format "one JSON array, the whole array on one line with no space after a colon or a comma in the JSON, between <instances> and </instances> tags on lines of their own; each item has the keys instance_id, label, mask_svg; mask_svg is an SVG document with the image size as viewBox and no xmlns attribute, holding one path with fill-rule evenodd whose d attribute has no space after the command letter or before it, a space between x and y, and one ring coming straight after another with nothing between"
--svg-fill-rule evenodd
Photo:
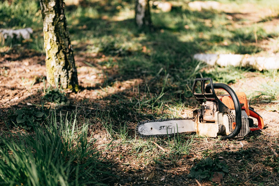
<instances>
[{"instance_id":1,"label":"nearer tree trunk with rough, cracked bark and yellow-green moss","mask_svg":"<svg viewBox=\"0 0 279 186\"><path fill-rule=\"evenodd\" d=\"M78 76L67 28L63 0L40 0L44 26L47 81L78 90Z\"/></svg>"}]
</instances>

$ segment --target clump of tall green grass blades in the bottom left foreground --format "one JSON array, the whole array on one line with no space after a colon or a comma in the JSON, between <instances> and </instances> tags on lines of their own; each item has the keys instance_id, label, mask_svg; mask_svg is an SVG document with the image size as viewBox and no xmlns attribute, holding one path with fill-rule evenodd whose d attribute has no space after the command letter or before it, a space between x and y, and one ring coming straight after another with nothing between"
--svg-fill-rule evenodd
<instances>
[{"instance_id":1,"label":"clump of tall green grass blades in the bottom left foreground","mask_svg":"<svg viewBox=\"0 0 279 186\"><path fill-rule=\"evenodd\" d=\"M52 113L33 132L2 134L1 185L102 185L107 165L87 136L88 124L78 124L76 115L57 119Z\"/></svg>"}]
</instances>

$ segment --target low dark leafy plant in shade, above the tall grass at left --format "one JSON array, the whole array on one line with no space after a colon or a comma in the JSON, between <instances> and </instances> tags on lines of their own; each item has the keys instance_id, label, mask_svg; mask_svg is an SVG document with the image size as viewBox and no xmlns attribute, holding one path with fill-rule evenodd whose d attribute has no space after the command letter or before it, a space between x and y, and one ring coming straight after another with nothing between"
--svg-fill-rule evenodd
<instances>
[{"instance_id":1,"label":"low dark leafy plant in shade, above the tall grass at left","mask_svg":"<svg viewBox=\"0 0 279 186\"><path fill-rule=\"evenodd\" d=\"M44 109L23 107L8 116L9 121L24 129L38 127L47 118Z\"/></svg>"}]
</instances>

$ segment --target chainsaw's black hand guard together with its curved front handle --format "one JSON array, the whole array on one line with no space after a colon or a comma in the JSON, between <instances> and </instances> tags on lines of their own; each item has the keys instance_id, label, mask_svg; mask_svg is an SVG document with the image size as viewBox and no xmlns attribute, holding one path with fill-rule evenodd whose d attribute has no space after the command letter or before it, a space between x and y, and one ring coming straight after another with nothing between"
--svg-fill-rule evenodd
<instances>
[{"instance_id":1,"label":"chainsaw's black hand guard together with its curved front handle","mask_svg":"<svg viewBox=\"0 0 279 186\"><path fill-rule=\"evenodd\" d=\"M201 81L201 93L196 92L196 84L198 81ZM206 81L209 81L209 84L206 84ZM199 102L200 105L202 105L204 99L207 101L212 101L217 104L217 109L219 112L227 112L229 114L232 113L232 111L224 105L224 103L219 100L219 98L216 96L214 89L223 89L229 93L229 95L232 98L232 101L234 102L234 108L235 108L235 129L232 133L229 135L223 137L223 139L231 139L235 136L237 136L241 129L241 107L238 100L238 97L234 90L230 88L227 84L224 83L212 83L212 78L197 78L194 81L192 92L196 100Z\"/></svg>"}]
</instances>

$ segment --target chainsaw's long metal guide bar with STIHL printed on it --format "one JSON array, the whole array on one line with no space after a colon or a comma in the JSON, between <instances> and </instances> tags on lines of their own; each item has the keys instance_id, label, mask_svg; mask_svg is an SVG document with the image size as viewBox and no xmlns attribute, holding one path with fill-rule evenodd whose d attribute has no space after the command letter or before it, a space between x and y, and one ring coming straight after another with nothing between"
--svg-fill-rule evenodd
<instances>
[{"instance_id":1,"label":"chainsaw's long metal guide bar with STIHL printed on it","mask_svg":"<svg viewBox=\"0 0 279 186\"><path fill-rule=\"evenodd\" d=\"M145 120L138 123L136 133L140 137L167 137L175 133L195 132L196 118L171 118Z\"/></svg>"}]
</instances>

